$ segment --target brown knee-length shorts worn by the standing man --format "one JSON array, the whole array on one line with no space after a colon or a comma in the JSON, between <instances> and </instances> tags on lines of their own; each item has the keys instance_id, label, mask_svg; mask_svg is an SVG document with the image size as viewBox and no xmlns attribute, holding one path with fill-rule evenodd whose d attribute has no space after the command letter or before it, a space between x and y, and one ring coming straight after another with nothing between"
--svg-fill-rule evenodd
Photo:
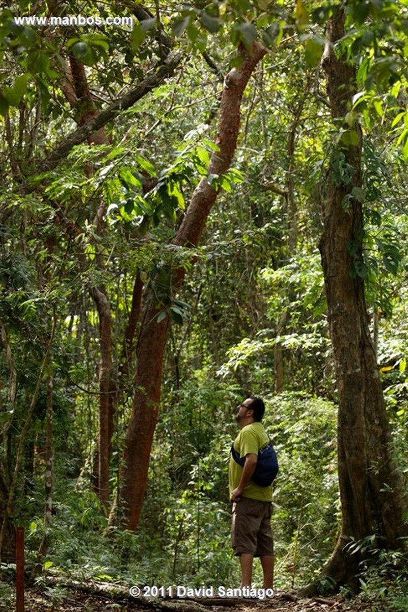
<instances>
[{"instance_id":1,"label":"brown knee-length shorts worn by the standing man","mask_svg":"<svg viewBox=\"0 0 408 612\"><path fill-rule=\"evenodd\" d=\"M232 506L231 546L234 554L254 557L274 554L271 528L272 503L241 498Z\"/></svg>"}]
</instances>

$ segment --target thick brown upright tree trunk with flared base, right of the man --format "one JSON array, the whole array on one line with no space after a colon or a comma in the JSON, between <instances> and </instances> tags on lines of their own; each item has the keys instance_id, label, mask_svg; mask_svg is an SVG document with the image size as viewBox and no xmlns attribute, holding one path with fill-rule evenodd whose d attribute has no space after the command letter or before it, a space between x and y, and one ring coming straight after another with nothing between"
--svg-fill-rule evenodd
<instances>
[{"instance_id":1,"label":"thick brown upright tree trunk with flared base, right of the man","mask_svg":"<svg viewBox=\"0 0 408 612\"><path fill-rule=\"evenodd\" d=\"M377 534L377 546L396 548L401 546L398 538L406 536L408 530L403 521L407 498L390 449L364 282L352 272L362 259L362 204L353 197L356 193L353 189L361 185L362 134L357 122L350 128L344 121L355 92L355 74L334 51L335 43L343 36L344 10L339 8L327 25L322 65L327 75L333 122L345 132L343 144L332 157L319 248L338 383L342 521L340 537L321 578L330 577L336 585L357 586L355 575L363 553L351 554L348 543ZM348 176L343 180L340 159L348 164ZM317 586L318 583L311 585L308 592Z\"/></svg>"}]
</instances>

